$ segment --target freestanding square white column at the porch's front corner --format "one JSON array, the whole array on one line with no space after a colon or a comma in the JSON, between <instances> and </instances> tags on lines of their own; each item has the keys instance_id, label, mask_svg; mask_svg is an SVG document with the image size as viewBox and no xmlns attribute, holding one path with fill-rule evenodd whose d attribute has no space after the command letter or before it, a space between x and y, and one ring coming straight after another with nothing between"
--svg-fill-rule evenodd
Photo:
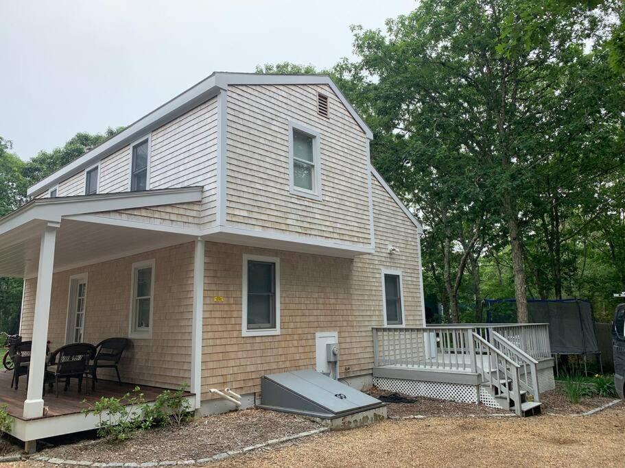
<instances>
[{"instance_id":1,"label":"freestanding square white column at the porch's front corner","mask_svg":"<svg viewBox=\"0 0 625 468\"><path fill-rule=\"evenodd\" d=\"M39 271L35 295L35 315L32 326L32 348L28 391L24 402L24 417L43 416L43 374L45 372L45 348L48 339L50 295L52 293L52 269L54 267L54 245L56 230L60 223L48 223L41 234L39 250Z\"/></svg>"}]
</instances>

